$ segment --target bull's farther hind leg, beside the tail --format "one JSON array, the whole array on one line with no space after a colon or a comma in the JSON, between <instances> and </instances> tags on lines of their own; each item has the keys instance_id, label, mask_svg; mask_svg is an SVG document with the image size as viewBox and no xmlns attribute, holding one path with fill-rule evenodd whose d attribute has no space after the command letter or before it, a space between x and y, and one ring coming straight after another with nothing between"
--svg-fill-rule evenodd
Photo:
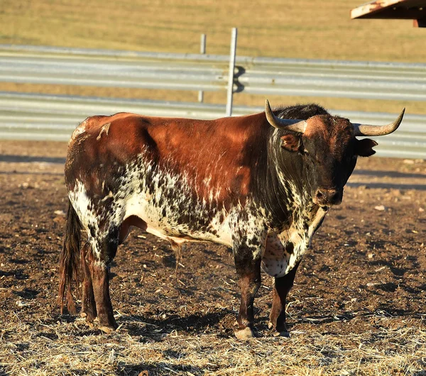
<instances>
[{"instance_id":1,"label":"bull's farther hind leg, beside the tail","mask_svg":"<svg viewBox=\"0 0 426 376\"><path fill-rule=\"evenodd\" d=\"M81 316L86 318L87 323L92 323L97 316L96 303L94 302L92 275L90 274L89 263L93 260L92 247L87 242L83 245L80 262L82 270L82 312Z\"/></svg>"}]
</instances>

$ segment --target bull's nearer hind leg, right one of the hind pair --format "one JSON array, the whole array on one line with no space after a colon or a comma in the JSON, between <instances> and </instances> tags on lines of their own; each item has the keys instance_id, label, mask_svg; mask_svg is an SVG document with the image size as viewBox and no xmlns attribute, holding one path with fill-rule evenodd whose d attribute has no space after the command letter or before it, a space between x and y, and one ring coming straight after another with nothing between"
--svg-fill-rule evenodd
<instances>
[{"instance_id":1,"label":"bull's nearer hind leg, right one of the hind pair","mask_svg":"<svg viewBox=\"0 0 426 376\"><path fill-rule=\"evenodd\" d=\"M109 265L119 245L118 229L110 229L107 235L92 240L94 258L89 262L94 301L96 303L99 329L109 333L117 328L109 296Z\"/></svg>"}]
</instances>

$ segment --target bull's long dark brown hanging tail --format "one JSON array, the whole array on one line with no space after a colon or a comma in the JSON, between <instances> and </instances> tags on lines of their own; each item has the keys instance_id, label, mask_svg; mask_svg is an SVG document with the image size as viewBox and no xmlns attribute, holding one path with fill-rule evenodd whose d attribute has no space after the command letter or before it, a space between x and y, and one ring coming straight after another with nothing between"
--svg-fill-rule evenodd
<instances>
[{"instance_id":1,"label":"bull's long dark brown hanging tail","mask_svg":"<svg viewBox=\"0 0 426 376\"><path fill-rule=\"evenodd\" d=\"M67 309L70 314L75 314L75 303L72 299L71 284L74 280L78 286L80 271L80 242L81 222L68 200L67 223L62 253L59 260L59 302L60 313L63 313L65 289L67 290Z\"/></svg>"}]
</instances>

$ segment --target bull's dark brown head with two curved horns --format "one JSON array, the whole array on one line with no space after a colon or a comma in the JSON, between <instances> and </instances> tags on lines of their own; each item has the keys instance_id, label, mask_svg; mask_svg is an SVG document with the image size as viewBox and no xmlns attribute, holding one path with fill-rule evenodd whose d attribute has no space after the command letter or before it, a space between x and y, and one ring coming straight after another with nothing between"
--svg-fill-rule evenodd
<instances>
[{"instance_id":1,"label":"bull's dark brown head with two curved horns","mask_svg":"<svg viewBox=\"0 0 426 376\"><path fill-rule=\"evenodd\" d=\"M383 136L395 131L403 120L404 111L391 124L370 126L351 123L346 118L317 115L307 120L282 119L273 114L268 100L266 118L271 126L285 130L282 147L299 153L310 183L312 201L320 206L342 202L343 187L356 165L356 158L376 153L374 140L357 140L356 136Z\"/></svg>"}]
</instances>

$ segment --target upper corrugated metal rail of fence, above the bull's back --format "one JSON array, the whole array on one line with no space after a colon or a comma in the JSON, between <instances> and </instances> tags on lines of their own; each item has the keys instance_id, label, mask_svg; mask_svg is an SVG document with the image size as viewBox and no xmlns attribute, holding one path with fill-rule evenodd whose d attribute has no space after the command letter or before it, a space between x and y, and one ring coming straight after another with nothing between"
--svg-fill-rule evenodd
<instances>
[{"instance_id":1,"label":"upper corrugated metal rail of fence, above the bull's back","mask_svg":"<svg viewBox=\"0 0 426 376\"><path fill-rule=\"evenodd\" d=\"M0 45L0 81L220 91L228 59ZM426 64L236 57L234 92L426 101Z\"/></svg>"}]
</instances>

